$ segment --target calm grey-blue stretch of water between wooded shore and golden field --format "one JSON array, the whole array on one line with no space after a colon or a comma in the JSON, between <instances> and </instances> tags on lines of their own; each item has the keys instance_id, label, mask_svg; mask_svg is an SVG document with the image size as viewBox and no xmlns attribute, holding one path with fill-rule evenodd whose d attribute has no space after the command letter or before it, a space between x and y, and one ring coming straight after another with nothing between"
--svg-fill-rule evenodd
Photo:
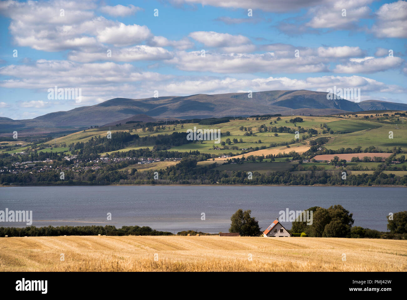
<instances>
[{"instance_id":1,"label":"calm grey-blue stretch of water between wooded shore and golden field","mask_svg":"<svg viewBox=\"0 0 407 300\"><path fill-rule=\"evenodd\" d=\"M0 188L0 210L32 210L33 225L140 225L178 232L227 232L239 208L264 230L280 210L341 204L355 226L387 230L389 212L407 210L406 188L281 186L71 186ZM112 221L107 221L107 213ZM201 220L204 212L206 220ZM287 229L291 223L283 223ZM25 223L0 226L25 227Z\"/></svg>"}]
</instances>

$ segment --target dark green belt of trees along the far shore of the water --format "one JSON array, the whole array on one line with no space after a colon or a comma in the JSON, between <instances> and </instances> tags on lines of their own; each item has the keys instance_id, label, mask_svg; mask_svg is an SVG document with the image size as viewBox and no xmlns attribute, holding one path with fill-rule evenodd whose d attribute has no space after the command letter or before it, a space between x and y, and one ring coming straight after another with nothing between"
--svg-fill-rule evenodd
<instances>
[{"instance_id":1,"label":"dark green belt of trees along the far shore of the water","mask_svg":"<svg viewBox=\"0 0 407 300\"><path fill-rule=\"evenodd\" d=\"M88 170L83 173L65 172L65 180L59 180L55 171L23 174L1 174L2 184L15 185L66 185L66 184L247 184L247 185L405 185L407 176L385 174L381 170L373 174L348 174L342 179L342 170L293 173L289 171L269 172L260 174L253 172L252 179L247 178L245 171L214 170L217 163L197 166L197 159L184 158L176 165L165 170L157 170L158 179L154 179L153 170L134 172L112 170L114 166L107 165L102 170Z\"/></svg>"}]
</instances>

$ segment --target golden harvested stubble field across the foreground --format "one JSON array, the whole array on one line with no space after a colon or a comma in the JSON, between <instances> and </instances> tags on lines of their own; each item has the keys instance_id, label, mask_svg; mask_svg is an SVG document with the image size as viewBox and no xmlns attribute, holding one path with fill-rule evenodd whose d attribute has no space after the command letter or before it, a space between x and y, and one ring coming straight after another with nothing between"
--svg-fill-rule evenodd
<instances>
[{"instance_id":1,"label":"golden harvested stubble field across the foreground","mask_svg":"<svg viewBox=\"0 0 407 300\"><path fill-rule=\"evenodd\" d=\"M0 238L0 271L407 271L407 240L10 237Z\"/></svg>"}]
</instances>

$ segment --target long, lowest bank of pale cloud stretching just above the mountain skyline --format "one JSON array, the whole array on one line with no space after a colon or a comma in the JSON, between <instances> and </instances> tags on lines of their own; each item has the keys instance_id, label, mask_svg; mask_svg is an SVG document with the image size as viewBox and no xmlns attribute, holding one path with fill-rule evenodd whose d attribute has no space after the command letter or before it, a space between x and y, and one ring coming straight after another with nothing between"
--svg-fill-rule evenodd
<instances>
[{"instance_id":1,"label":"long, lowest bank of pale cloud stretching just above the mountain skyline","mask_svg":"<svg viewBox=\"0 0 407 300\"><path fill-rule=\"evenodd\" d=\"M206 63L208 64L208 63ZM32 76L35 74L35 77ZM361 88L364 92L406 93L405 88L378 82L361 76L322 76L296 79L289 77L253 77L238 79L232 76L175 76L155 72L140 72L131 64L114 62L85 63L59 60L38 60L31 65L11 65L0 68L0 75L9 79L0 81L5 88L35 89L43 99L26 101L22 107L41 108L59 104L49 102L48 88L81 88L81 105L91 105L114 97L152 97L160 95L191 95L197 93L230 93L241 90L296 90L326 91L338 87ZM48 103L47 103L48 102ZM3 104L4 106L5 104ZM75 105L74 101L67 105Z\"/></svg>"}]
</instances>

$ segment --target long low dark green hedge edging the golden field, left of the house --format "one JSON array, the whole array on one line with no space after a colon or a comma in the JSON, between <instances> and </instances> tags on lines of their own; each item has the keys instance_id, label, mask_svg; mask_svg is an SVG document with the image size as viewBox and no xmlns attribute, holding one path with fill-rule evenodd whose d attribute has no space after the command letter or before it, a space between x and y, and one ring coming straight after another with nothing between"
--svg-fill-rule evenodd
<instances>
[{"instance_id":1,"label":"long low dark green hedge edging the golden field, left of the house","mask_svg":"<svg viewBox=\"0 0 407 300\"><path fill-rule=\"evenodd\" d=\"M171 232L157 231L148 226L48 226L48 227L0 227L0 237L4 236L171 236Z\"/></svg>"}]
</instances>

